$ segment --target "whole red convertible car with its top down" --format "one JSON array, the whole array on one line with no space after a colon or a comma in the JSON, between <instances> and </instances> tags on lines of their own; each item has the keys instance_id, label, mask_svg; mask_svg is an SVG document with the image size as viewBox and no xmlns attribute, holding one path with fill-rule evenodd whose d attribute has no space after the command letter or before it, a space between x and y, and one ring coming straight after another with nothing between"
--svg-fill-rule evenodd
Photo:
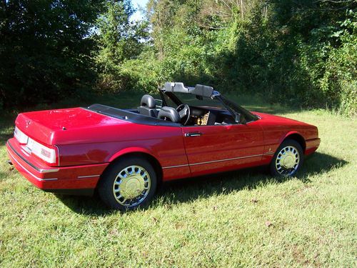
<instances>
[{"instance_id":1,"label":"whole red convertible car with its top down","mask_svg":"<svg viewBox=\"0 0 357 268\"><path fill-rule=\"evenodd\" d=\"M94 104L16 118L9 162L48 192L144 206L159 182L269 165L292 176L320 144L316 126L243 109L211 86L166 83L138 109Z\"/></svg>"}]
</instances>

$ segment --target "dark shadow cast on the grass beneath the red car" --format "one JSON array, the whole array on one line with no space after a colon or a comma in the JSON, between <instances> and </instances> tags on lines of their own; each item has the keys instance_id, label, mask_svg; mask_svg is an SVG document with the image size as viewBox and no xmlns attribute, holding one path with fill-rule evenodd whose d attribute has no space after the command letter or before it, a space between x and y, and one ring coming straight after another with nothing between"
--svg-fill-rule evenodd
<instances>
[{"instance_id":1,"label":"dark shadow cast on the grass beneath the red car","mask_svg":"<svg viewBox=\"0 0 357 268\"><path fill-rule=\"evenodd\" d=\"M303 183L310 182L309 177L315 174L323 174L333 168L343 167L348 162L331 157L328 154L316 152L306 159L303 168L298 173L297 179ZM256 167L241 169L234 172L225 172L209 176L181 179L174 182L166 182L159 189L152 202L152 206L162 204L177 204L192 202L198 198L210 197L218 194L229 194L241 189L256 189L269 183L284 183L290 178L271 177L267 167ZM98 197L73 197L57 194L61 200L72 211L90 216L104 216L113 213L99 200Z\"/></svg>"}]
</instances>

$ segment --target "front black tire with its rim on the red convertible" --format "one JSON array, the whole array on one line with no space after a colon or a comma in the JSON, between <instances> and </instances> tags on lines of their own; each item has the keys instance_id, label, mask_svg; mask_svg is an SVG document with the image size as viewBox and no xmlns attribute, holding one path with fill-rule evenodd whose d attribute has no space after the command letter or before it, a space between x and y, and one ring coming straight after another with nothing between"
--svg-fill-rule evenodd
<instances>
[{"instance_id":1,"label":"front black tire with its rim on the red convertible","mask_svg":"<svg viewBox=\"0 0 357 268\"><path fill-rule=\"evenodd\" d=\"M291 148L296 149L296 152ZM286 165L290 166L289 164L291 164L291 165L294 165L294 167L288 168L288 167L285 167L285 165L282 163L283 162L283 160L281 160L282 156L285 155L285 154L281 153L283 149L285 152L288 152L289 154L291 154L291 158L286 160L286 162L287 162ZM293 156L296 157L296 153L298 153L299 159L298 159L298 164L295 167L296 159L294 159ZM278 157L280 157L280 159L277 162ZM294 164L294 161L295 161L295 164ZM280 144L278 149L276 149L276 153L274 154L274 157L271 160L270 172L273 176L292 177L299 171L302 164L303 164L303 149L302 149L301 145L293 139L286 139L285 141L283 141ZM280 169L279 169L279 167L280 167Z\"/></svg>"}]
</instances>

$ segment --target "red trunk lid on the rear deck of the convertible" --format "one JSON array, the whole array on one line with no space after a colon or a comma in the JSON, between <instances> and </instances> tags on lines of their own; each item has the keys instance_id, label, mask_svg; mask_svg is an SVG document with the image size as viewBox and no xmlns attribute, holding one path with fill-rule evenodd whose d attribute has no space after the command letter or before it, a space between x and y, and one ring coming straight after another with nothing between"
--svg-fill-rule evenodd
<instances>
[{"instance_id":1,"label":"red trunk lid on the rear deck of the convertible","mask_svg":"<svg viewBox=\"0 0 357 268\"><path fill-rule=\"evenodd\" d=\"M119 125L133 123L83 108L71 108L22 113L17 116L15 124L38 142L54 145L93 142L93 139L83 135L84 130L90 131L90 136L95 137L98 129L101 129L101 134L104 129L111 133L114 126L117 131ZM99 137L101 142L110 139L110 135Z\"/></svg>"}]
</instances>

